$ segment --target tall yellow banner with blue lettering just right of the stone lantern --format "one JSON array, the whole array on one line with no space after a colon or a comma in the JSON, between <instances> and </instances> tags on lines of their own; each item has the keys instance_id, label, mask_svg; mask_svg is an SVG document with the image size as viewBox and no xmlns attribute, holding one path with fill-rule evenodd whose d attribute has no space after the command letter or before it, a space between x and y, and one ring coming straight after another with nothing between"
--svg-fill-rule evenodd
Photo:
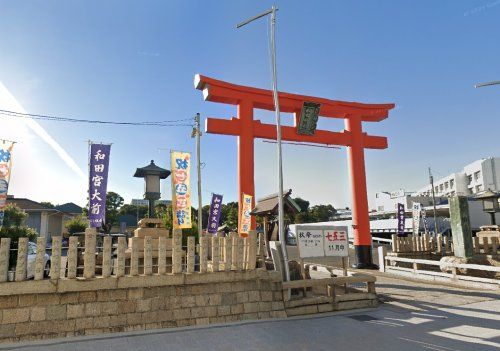
<instances>
[{"instance_id":1,"label":"tall yellow banner with blue lettering just right of the stone lantern","mask_svg":"<svg viewBox=\"0 0 500 351\"><path fill-rule=\"evenodd\" d=\"M171 151L172 223L174 229L191 228L191 154Z\"/></svg>"}]
</instances>

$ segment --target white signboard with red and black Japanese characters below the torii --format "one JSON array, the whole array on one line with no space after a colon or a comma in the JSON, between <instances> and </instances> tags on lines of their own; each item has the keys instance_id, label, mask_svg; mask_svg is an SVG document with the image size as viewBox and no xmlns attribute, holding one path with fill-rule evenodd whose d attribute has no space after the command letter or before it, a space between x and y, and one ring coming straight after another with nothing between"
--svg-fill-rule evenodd
<instances>
[{"instance_id":1,"label":"white signboard with red and black Japanese characters below the torii","mask_svg":"<svg viewBox=\"0 0 500 351\"><path fill-rule=\"evenodd\" d=\"M305 257L348 256L347 227L295 225L299 255Z\"/></svg>"}]
</instances>

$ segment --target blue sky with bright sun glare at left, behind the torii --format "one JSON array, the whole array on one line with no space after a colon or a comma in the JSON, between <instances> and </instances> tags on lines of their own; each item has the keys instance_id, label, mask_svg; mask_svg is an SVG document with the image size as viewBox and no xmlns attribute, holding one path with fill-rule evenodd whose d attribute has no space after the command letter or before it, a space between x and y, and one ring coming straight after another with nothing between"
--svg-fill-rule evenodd
<instances>
[{"instance_id":1,"label":"blue sky with bright sun glare at left, behind the torii","mask_svg":"<svg viewBox=\"0 0 500 351\"><path fill-rule=\"evenodd\" d=\"M476 159L499 156L500 1L278 1L279 89L359 102L396 103L364 128L387 150L366 153L370 200L381 190L415 190ZM270 88L267 22L236 23L270 1L0 1L0 82L30 113L142 121L234 116L204 102L196 73ZM1 89L0 89L1 91ZM6 93L7 94L7 93ZM15 105L15 104L14 104ZM256 118L272 121L268 112ZM292 116L284 114L285 124ZM0 138L17 138L10 193L84 203L85 182L33 128L0 118ZM23 122L24 123L24 122ZM112 142L109 190L142 196L135 168L168 150L194 151L189 127L147 128L40 122L86 173L85 140ZM0 124L1 126L1 124ZM342 130L341 120L320 122ZM17 133L17 134L16 134ZM25 139L23 139L23 136ZM43 138L42 138L43 139ZM236 138L204 135L203 196L237 198ZM256 141L257 197L275 192L275 145ZM345 149L284 146L285 187L312 203L349 206ZM16 154L14 154L16 157ZM193 179L194 181L194 179ZM196 191L193 191L196 201ZM163 197L170 198L166 184Z\"/></svg>"}]
</instances>

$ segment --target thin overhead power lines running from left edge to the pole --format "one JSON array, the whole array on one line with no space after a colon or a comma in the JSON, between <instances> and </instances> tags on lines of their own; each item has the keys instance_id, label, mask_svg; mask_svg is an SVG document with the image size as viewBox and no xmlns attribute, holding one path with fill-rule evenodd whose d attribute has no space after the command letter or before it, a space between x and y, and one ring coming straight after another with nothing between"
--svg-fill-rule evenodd
<instances>
[{"instance_id":1,"label":"thin overhead power lines running from left edge to the pole","mask_svg":"<svg viewBox=\"0 0 500 351\"><path fill-rule=\"evenodd\" d=\"M192 121L192 118L176 119L176 120L165 120L165 121L142 121L142 122L121 122L121 121L102 121L102 120L92 120L92 119L78 119L70 117L60 117L60 116L50 116L50 115L40 115L33 113L21 113L16 111L1 110L0 115L17 117L17 118L29 118L43 121L54 121L54 122L71 122L71 123L92 123L92 124L113 124L113 125L131 125L131 126L156 126L156 127L192 127L193 124L188 124L188 121Z\"/></svg>"}]
</instances>

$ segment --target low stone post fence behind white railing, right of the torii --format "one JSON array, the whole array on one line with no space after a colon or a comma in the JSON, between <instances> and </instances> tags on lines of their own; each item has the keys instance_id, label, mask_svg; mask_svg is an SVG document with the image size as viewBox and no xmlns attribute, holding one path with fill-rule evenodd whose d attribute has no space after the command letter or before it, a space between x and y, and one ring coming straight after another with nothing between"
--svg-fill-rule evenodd
<instances>
[{"instance_id":1,"label":"low stone post fence behind white railing, right of the torii","mask_svg":"<svg viewBox=\"0 0 500 351\"><path fill-rule=\"evenodd\" d=\"M479 237L474 237L474 253L480 254L490 254L495 255L498 252L499 244L498 238L483 237L480 240ZM395 253L436 253L443 256L450 255L453 253L453 243L447 236L442 236L439 234L437 237L430 237L429 234L423 234L419 236L408 235L406 237L398 237L397 235L392 235L392 252Z\"/></svg>"}]
</instances>

